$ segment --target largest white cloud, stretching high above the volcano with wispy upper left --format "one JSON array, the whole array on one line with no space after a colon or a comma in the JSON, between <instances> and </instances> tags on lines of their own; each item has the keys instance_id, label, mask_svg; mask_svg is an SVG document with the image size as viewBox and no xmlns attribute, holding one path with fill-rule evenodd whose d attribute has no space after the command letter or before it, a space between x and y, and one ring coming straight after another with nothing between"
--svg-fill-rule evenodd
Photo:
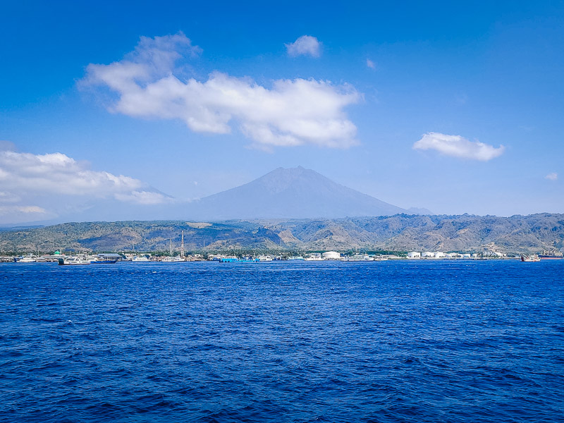
<instances>
[{"instance_id":1,"label":"largest white cloud, stretching high above the volcano with wispy upper left","mask_svg":"<svg viewBox=\"0 0 564 423\"><path fill-rule=\"evenodd\" d=\"M183 34L143 38L122 61L90 64L82 83L102 85L117 94L110 111L180 119L202 133L231 133L237 123L255 147L357 144L357 128L343 111L362 97L352 86L298 78L275 80L268 88L221 72L205 81L181 80L174 63L186 52L179 45L194 54L196 47Z\"/></svg>"}]
</instances>

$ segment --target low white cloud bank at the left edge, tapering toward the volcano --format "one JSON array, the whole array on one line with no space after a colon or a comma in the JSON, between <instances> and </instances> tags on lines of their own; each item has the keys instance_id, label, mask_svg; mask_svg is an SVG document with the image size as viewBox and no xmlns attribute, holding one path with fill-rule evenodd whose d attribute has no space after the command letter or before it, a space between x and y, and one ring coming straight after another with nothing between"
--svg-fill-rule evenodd
<instances>
[{"instance_id":1,"label":"low white cloud bank at the left edge, tapering toward the volcano","mask_svg":"<svg viewBox=\"0 0 564 423\"><path fill-rule=\"evenodd\" d=\"M86 164L61 153L0 152L0 186L0 204L22 202L22 197L39 194L114 198L137 204L170 200L141 180L92 171ZM24 206L18 204L18 207ZM39 212L38 209L30 210Z\"/></svg>"}]
</instances>

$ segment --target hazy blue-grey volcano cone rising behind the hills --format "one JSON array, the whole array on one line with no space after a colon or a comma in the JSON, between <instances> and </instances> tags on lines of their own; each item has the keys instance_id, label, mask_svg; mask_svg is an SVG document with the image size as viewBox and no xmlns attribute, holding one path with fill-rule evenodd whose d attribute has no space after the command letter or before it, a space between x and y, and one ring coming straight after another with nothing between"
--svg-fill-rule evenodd
<instances>
[{"instance_id":1,"label":"hazy blue-grey volcano cone rising behind the hills","mask_svg":"<svg viewBox=\"0 0 564 423\"><path fill-rule=\"evenodd\" d=\"M277 168L186 209L190 219L300 219L386 216L407 212L300 167Z\"/></svg>"}]
</instances>

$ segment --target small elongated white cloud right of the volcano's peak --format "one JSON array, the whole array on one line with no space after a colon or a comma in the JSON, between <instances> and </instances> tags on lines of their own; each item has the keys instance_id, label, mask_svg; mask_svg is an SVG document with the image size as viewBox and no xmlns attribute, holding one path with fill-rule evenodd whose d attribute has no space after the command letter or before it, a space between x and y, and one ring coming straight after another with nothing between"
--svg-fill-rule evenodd
<instances>
[{"instance_id":1,"label":"small elongated white cloud right of the volcano's peak","mask_svg":"<svg viewBox=\"0 0 564 423\"><path fill-rule=\"evenodd\" d=\"M427 133L421 140L415 142L414 149L434 149L446 156L460 159L489 161L501 156L505 147L494 147L479 141L469 141L460 135L445 135L441 133Z\"/></svg>"}]
</instances>

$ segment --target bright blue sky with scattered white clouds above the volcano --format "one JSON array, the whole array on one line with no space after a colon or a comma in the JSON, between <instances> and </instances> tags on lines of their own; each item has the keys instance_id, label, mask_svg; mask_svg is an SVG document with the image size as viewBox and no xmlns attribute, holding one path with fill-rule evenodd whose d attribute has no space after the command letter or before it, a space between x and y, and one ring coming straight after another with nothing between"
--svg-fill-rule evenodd
<instances>
[{"instance_id":1,"label":"bright blue sky with scattered white clouds above the volcano","mask_svg":"<svg viewBox=\"0 0 564 423\"><path fill-rule=\"evenodd\" d=\"M564 212L564 2L2 2L0 223L303 166L436 214Z\"/></svg>"}]
</instances>

